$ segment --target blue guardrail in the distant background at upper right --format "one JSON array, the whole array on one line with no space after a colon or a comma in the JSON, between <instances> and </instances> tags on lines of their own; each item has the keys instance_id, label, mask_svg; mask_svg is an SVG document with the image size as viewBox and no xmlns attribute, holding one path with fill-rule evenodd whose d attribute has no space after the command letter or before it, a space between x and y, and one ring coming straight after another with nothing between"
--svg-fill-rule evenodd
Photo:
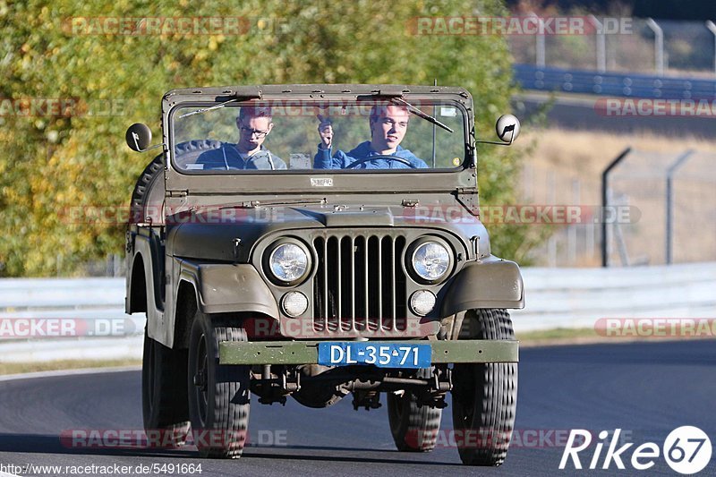
<instances>
[{"instance_id":1,"label":"blue guardrail in the distant background at upper right","mask_svg":"<svg viewBox=\"0 0 716 477\"><path fill-rule=\"evenodd\" d=\"M716 98L714 80L566 70L533 64L515 64L513 70L516 81L524 89L630 98Z\"/></svg>"}]
</instances>

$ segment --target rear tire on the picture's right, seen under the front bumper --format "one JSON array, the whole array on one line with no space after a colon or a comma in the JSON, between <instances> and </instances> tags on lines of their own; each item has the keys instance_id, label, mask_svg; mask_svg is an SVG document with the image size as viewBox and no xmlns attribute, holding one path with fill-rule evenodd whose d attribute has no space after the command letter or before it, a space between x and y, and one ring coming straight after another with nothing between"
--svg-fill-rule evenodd
<instances>
[{"instance_id":1,"label":"rear tire on the picture's right, seen under the front bumper","mask_svg":"<svg viewBox=\"0 0 716 477\"><path fill-rule=\"evenodd\" d=\"M420 370L418 378L427 378L430 370ZM405 390L403 396L388 393L388 422L397 450L427 452L435 448L438 439L442 409L418 405L413 392Z\"/></svg>"}]
</instances>

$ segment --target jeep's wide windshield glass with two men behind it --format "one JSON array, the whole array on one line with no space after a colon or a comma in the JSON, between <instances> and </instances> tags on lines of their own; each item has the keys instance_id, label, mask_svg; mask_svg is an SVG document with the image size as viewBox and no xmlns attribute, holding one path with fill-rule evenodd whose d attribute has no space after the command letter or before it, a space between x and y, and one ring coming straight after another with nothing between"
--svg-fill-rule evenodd
<instances>
[{"instance_id":1,"label":"jeep's wide windshield glass with two men behind it","mask_svg":"<svg viewBox=\"0 0 716 477\"><path fill-rule=\"evenodd\" d=\"M406 102L407 101L407 102ZM170 114L185 174L419 172L466 162L466 113L450 100L217 101Z\"/></svg>"}]
</instances>

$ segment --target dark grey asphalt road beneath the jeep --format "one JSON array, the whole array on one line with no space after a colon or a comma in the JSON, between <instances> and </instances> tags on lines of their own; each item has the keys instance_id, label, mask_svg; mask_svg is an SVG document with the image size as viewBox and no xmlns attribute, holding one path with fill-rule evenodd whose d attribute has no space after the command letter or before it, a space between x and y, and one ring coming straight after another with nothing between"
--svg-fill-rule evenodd
<instances>
[{"instance_id":1,"label":"dark grey asphalt road beneath the jeep","mask_svg":"<svg viewBox=\"0 0 716 477\"><path fill-rule=\"evenodd\" d=\"M67 430L141 430L141 374L123 371L0 382L0 471L8 472L8 464L201 464L200 475L212 476L555 475L569 430L621 429L626 442L635 443L623 455L626 470L612 463L609 471L576 471L570 464L559 474L675 475L662 457L648 471L635 471L628 462L632 450L648 441L661 447L682 425L706 431L716 447L716 341L530 348L521 352L519 372L516 432L524 443L495 469L460 464L449 441L449 408L439 448L404 454L394 450L385 405L355 412L349 399L323 410L254 400L250 446L237 461L201 460L191 448L87 450L61 443ZM535 447L539 432L543 439ZM584 451L584 466L592 452ZM167 467L148 474L179 473ZM702 474L716 474L716 459Z\"/></svg>"}]
</instances>

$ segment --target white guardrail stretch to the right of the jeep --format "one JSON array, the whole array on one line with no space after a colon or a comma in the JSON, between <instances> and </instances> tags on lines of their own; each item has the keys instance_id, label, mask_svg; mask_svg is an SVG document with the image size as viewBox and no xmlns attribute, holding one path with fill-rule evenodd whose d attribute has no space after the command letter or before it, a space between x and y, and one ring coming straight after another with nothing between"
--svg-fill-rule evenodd
<instances>
[{"instance_id":1,"label":"white guardrail stretch to the right of the jeep","mask_svg":"<svg viewBox=\"0 0 716 477\"><path fill-rule=\"evenodd\" d=\"M593 328L601 318L716 319L716 263L629 268L523 268L516 332Z\"/></svg>"}]
</instances>

